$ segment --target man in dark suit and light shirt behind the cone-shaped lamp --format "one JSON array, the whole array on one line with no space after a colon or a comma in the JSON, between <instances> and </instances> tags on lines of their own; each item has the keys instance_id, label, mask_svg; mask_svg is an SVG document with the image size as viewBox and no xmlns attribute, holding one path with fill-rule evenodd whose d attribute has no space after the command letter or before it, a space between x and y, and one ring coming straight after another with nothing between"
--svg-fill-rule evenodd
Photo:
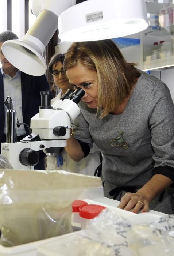
<instances>
[{"instance_id":1,"label":"man in dark suit and light shirt behind the cone-shaped lamp","mask_svg":"<svg viewBox=\"0 0 174 256\"><path fill-rule=\"evenodd\" d=\"M13 101L13 109L16 109L19 123L30 126L30 119L39 112L41 104L40 91L49 91L50 87L46 76L31 76L15 68L5 58L1 47L7 40L19 39L12 31L4 31L0 34L0 154L1 142L6 142L6 111L5 99L10 96ZM26 125L17 128L17 140L22 140L28 135ZM43 156L43 155L42 155ZM41 158L41 155L40 155ZM34 169L45 169L43 158Z\"/></svg>"}]
</instances>

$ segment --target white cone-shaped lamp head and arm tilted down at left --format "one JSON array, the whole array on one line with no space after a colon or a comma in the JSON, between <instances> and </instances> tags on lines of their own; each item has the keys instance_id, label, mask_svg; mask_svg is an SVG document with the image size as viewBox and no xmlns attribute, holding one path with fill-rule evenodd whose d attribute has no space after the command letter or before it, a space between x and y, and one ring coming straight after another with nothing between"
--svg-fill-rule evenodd
<instances>
[{"instance_id":1,"label":"white cone-shaped lamp head and arm tilted down at left","mask_svg":"<svg viewBox=\"0 0 174 256\"><path fill-rule=\"evenodd\" d=\"M2 52L19 70L29 75L40 76L46 72L43 52L58 28L58 16L76 4L76 0L32 0L32 2L35 4L34 13L38 15L34 24L22 39L5 41Z\"/></svg>"}]
</instances>

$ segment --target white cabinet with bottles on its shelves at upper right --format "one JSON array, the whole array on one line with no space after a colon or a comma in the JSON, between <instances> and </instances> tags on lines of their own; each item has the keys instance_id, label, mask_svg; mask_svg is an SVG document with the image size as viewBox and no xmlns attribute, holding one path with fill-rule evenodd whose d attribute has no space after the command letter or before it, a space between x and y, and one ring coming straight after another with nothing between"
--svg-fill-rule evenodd
<instances>
[{"instance_id":1,"label":"white cabinet with bottles on its shelves at upper right","mask_svg":"<svg viewBox=\"0 0 174 256\"><path fill-rule=\"evenodd\" d=\"M146 2L149 27L141 33L142 69L174 66L174 4L172 0Z\"/></svg>"}]
</instances>

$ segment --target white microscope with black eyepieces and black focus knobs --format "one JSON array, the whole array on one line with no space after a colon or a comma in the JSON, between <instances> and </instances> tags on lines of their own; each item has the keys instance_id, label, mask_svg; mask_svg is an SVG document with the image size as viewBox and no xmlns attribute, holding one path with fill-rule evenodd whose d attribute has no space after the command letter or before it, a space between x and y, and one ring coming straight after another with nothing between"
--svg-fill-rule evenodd
<instances>
[{"instance_id":1,"label":"white microscope with black eyepieces and black focus knobs","mask_svg":"<svg viewBox=\"0 0 174 256\"><path fill-rule=\"evenodd\" d=\"M32 170L39 162L38 151L45 150L56 155L59 147L66 146L70 137L71 122L80 114L78 103L85 91L68 89L61 99L51 106L51 93L41 92L39 113L31 118L32 133L17 142L16 110L7 110L7 142L2 143L2 155L8 159L13 169Z\"/></svg>"}]
</instances>

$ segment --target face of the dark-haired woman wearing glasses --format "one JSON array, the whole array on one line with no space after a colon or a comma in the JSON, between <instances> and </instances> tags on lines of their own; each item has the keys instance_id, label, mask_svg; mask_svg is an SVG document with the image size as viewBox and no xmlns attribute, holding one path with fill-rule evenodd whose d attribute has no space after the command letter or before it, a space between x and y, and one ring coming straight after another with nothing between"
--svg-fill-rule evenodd
<instances>
[{"instance_id":1,"label":"face of the dark-haired woman wearing glasses","mask_svg":"<svg viewBox=\"0 0 174 256\"><path fill-rule=\"evenodd\" d=\"M52 72L53 71L61 71L63 69L63 64L58 61L56 64L53 65ZM72 88L74 89L67 78L66 75L63 75L61 72L59 73L59 76L57 78L53 78L54 83L56 86L58 86L62 91L67 91L67 89Z\"/></svg>"}]
</instances>

